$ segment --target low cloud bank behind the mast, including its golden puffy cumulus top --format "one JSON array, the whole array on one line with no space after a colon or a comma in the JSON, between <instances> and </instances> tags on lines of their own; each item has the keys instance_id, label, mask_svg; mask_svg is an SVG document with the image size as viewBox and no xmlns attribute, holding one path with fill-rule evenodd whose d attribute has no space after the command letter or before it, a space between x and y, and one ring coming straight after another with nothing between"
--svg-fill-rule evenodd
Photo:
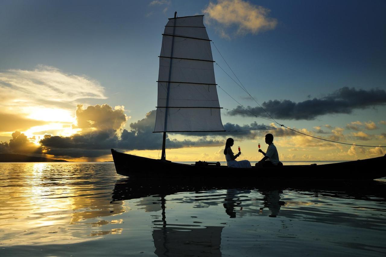
<instances>
[{"instance_id":1,"label":"low cloud bank behind the mast, including its golden puffy cumulus top","mask_svg":"<svg viewBox=\"0 0 386 257\"><path fill-rule=\"evenodd\" d=\"M45 135L40 140L46 154L59 158L86 157L95 158L107 155L111 148L121 150L159 150L162 147L162 133L153 133L156 110L146 114L146 117L137 122L130 123L130 131L122 130L126 121L123 108L113 110L108 105L95 105L83 109L82 105L77 106L76 118L77 128L81 128L78 134L68 137L58 135ZM224 128L227 130L249 130L253 128L266 127L265 124L238 125L227 123ZM121 131L121 132L120 132ZM178 140L171 136L178 136L177 133L168 133L166 147L177 149L184 147L222 147L226 137L235 139L255 139L263 137L267 133L276 137L295 135L295 132L281 127L267 127L262 130L243 132L200 132L195 134L184 134L191 139ZM220 139L216 137L220 136Z\"/></svg>"}]
</instances>

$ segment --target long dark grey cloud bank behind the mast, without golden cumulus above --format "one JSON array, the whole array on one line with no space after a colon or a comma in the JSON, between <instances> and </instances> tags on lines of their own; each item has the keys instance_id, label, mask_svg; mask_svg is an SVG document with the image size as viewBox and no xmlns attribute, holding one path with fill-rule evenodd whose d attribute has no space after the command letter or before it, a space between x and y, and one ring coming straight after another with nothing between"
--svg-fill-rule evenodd
<instances>
[{"instance_id":1,"label":"long dark grey cloud bank behind the mast, without golden cumulus above","mask_svg":"<svg viewBox=\"0 0 386 257\"><path fill-rule=\"evenodd\" d=\"M52 154L56 157L92 158L109 154L111 148L121 150L159 150L162 147L163 134L153 133L155 118L155 110L148 112L142 120L130 123L130 131L126 129L122 130L120 137L117 135L117 130L110 128L106 130L88 131L84 134L75 134L69 137L46 135L40 143L46 150L46 154ZM85 117L85 120L86 119L87 117ZM171 139L168 133L166 135L166 147L168 149L176 149L183 147L220 146L224 144L227 137L234 137L235 139L255 139L256 137L264 137L267 133L273 133L275 137L295 134L295 132L291 130L267 127L266 124L258 124L256 122L250 125L226 123L224 128L230 131L251 130L255 128L262 129L242 132L184 133L184 135L199 137L196 140ZM176 135L176 133L173 134ZM210 136L221 136L223 139L212 139L209 138Z\"/></svg>"}]
</instances>

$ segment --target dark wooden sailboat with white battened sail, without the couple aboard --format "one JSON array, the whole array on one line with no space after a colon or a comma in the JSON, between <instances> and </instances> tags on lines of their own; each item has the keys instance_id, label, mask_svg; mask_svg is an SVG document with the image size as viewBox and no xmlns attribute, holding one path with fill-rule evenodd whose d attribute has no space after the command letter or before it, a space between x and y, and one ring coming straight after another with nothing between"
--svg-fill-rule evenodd
<instances>
[{"instance_id":1,"label":"dark wooden sailboat with white battened sail, without the couple aboard","mask_svg":"<svg viewBox=\"0 0 386 257\"><path fill-rule=\"evenodd\" d=\"M170 18L159 56L155 133L163 133L161 159L111 149L118 174L131 178L376 179L386 176L386 155L366 160L323 165L244 169L220 163L180 164L166 160L166 132L222 132L213 57L204 15ZM225 157L224 157L225 158ZM379 167L379 168L376 168ZM234 176L232 176L234 179Z\"/></svg>"}]
</instances>

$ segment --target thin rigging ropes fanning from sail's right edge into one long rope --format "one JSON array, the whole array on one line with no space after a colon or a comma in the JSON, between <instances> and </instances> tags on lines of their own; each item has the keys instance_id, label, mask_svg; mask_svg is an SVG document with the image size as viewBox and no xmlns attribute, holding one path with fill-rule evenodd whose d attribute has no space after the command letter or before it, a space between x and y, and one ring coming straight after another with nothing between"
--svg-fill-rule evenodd
<instances>
[{"instance_id":1,"label":"thin rigging ropes fanning from sail's right edge into one long rope","mask_svg":"<svg viewBox=\"0 0 386 257\"><path fill-rule=\"evenodd\" d=\"M253 98L252 96L251 96L251 94L249 94L249 92L247 91L247 89L244 87L244 85L242 85L242 83L241 83L241 81L240 81L240 79L239 78L237 78L237 76L236 76L236 74L233 72L233 70L232 70L232 68L230 68L230 66L229 66L229 64L227 63L227 61L225 61L225 58L222 56L222 54L220 53L220 51L218 50L218 48L217 48L217 46L215 45L215 43L212 41L212 43L213 43L213 45L215 46L215 48L217 49L217 52L220 54L220 56L222 57L222 59L224 60L224 62L227 64L227 66L228 66L228 68L232 71L232 73L234 74L234 76L236 77L236 79L239 81L239 83L240 83L240 85L239 85L239 83L237 83L223 68L221 68L221 66L218 64L218 63L216 63L217 64L217 66L218 67L220 67L220 69L222 69L222 71L225 73L225 74L227 74L228 76L229 76L229 78L231 78L242 90L244 90L245 91L245 93L247 93L256 103L257 103L257 105L259 105L259 107L260 108L262 108L263 110L264 110L264 112L266 112L267 113L267 115L269 116L269 117L271 117L271 119L273 119L273 120L269 120L269 119L267 119L267 118L263 118L263 117L261 117L261 116L258 116L258 115L256 115L256 114L254 114L254 113L252 113L250 110L248 110L247 108L245 108L242 104L240 104L237 100L235 100L235 98L233 98L231 95L229 95L222 87L220 87L220 86L218 86L219 88L221 88L227 95L229 95L230 96L230 98L232 98L233 100L235 100L242 108L244 108L247 112L250 112L251 114L249 114L249 113L244 113L244 112L238 112L238 111L235 111L235 110L230 110L230 109L227 109L227 108L224 108L225 110L228 110L228 111L232 111L232 112L238 112L238 113L243 113L243 114L246 114L246 115L252 115L252 116L254 116L254 117L259 117L259 118L263 118L263 119L265 119L265 120L269 120L269 121L271 121L271 122L276 122L275 124L272 124L272 125L269 125L269 126L266 126L266 127L261 127L261 128L255 128L255 129L251 129L251 130L257 130L257 129L262 129L262 128L267 128L267 127L271 127L271 126L274 126L274 125L276 125L276 124L278 124L278 125L280 125L281 127L284 127L284 128L287 128L287 129L289 129L289 130L292 130L292 131L294 131L294 132L297 132L297 133L300 133L300 134L303 134L303 135L306 135L306 136L308 136L308 137L313 137L313 138L315 138L315 139L320 139L320 140L325 140L325 141L328 141L328 142L333 142L333 143L338 143L338 144L344 144L344 145L356 145L356 144L348 144L348 143L342 143L342 142L337 142L337 141L333 141L333 140L328 140L328 139L323 139L323 138L320 138L320 137L314 137L314 136L312 136L312 135L307 135L307 134L305 134L305 133L302 133L302 132L299 132L299 131L297 131L297 130L293 130L292 128L289 128L289 127L286 127L286 126L284 126L283 124L280 124L280 123L278 123L256 100L255 100L255 98ZM231 131L231 130L227 130L227 132L245 132L245 131L251 131L251 130L233 130L233 131ZM386 147L386 146L376 146L376 145L356 145L356 146L364 146L364 147Z\"/></svg>"}]
</instances>

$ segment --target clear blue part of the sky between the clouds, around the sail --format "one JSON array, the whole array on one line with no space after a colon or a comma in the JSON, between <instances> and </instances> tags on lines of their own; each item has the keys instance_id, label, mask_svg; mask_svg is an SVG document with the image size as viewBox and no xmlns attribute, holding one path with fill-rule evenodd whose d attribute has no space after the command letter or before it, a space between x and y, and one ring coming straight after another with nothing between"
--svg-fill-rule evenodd
<instances>
[{"instance_id":1,"label":"clear blue part of the sky between the clouds, around the sail","mask_svg":"<svg viewBox=\"0 0 386 257\"><path fill-rule=\"evenodd\" d=\"M212 1L212 5L223 2ZM240 16L240 21L229 26L209 14L204 19L210 39L259 103L275 99L297 103L322 98L343 87L385 90L386 2L235 2L264 7L270 10L266 17L277 22L272 29L236 34L242 24ZM174 16L174 11L179 17L204 14L209 4L210 1L176 0L3 0L0 3L0 72L6 75L12 69L33 71L41 65L96 81L103 88L104 97L85 97L74 103L85 107L124 106L128 120L122 128L130 131L130 123L145 118L147 112L155 109L157 56L168 18ZM227 37L220 35L220 29ZM226 64L213 46L212 52L213 59L225 69ZM247 95L217 65L215 75L218 85L240 103L256 105L246 99ZM44 95L44 91L41 94ZM237 107L221 90L218 95L222 107ZM352 108L350 114L278 121L308 131L325 124L344 128L350 122L372 121L377 124L377 129L372 130L372 144L384 145L381 135L386 126L379 122L386 119L385 103ZM224 112L222 120L242 125L256 119L229 116ZM256 122L260 124L264 120ZM10 133L3 131L0 140L10 139Z\"/></svg>"}]
</instances>

